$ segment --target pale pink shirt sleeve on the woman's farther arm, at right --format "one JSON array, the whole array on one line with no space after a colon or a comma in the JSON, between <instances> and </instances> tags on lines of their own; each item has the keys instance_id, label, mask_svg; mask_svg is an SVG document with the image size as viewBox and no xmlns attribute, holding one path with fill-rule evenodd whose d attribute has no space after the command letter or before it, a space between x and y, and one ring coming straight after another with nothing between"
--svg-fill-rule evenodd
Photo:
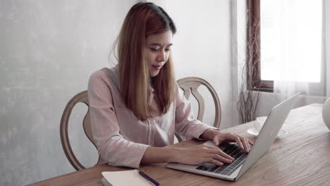
<instances>
[{"instance_id":1,"label":"pale pink shirt sleeve on the woman's farther arm, at right","mask_svg":"<svg viewBox=\"0 0 330 186\"><path fill-rule=\"evenodd\" d=\"M176 132L178 135L185 137L185 139L196 138L201 140L200 135L209 128L216 129L194 119L193 107L185 99L183 90L176 85Z\"/></svg>"}]
</instances>

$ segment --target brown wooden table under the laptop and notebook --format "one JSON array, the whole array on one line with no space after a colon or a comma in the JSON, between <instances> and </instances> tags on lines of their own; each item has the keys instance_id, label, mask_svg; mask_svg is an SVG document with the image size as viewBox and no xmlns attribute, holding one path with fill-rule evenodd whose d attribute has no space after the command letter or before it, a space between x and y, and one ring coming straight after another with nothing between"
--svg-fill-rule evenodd
<instances>
[{"instance_id":1,"label":"brown wooden table under the laptop and notebook","mask_svg":"<svg viewBox=\"0 0 330 186\"><path fill-rule=\"evenodd\" d=\"M226 132L255 140L246 130L252 123L228 128ZM288 135L276 138L267 152L238 181L226 181L204 175L186 173L165 168L162 165L144 165L140 170L157 180L161 185L330 185L330 130L322 120L322 104L312 104L294 109L283 128ZM187 140L176 147L191 147L202 142ZM102 164L32 185L100 185L102 171L121 171Z\"/></svg>"}]
</instances>

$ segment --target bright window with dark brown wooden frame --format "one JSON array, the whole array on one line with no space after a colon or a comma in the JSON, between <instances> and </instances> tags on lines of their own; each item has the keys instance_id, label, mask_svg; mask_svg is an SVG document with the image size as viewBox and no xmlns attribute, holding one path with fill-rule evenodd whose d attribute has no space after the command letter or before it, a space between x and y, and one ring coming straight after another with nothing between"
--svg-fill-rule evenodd
<instances>
[{"instance_id":1,"label":"bright window with dark brown wooden frame","mask_svg":"<svg viewBox=\"0 0 330 186\"><path fill-rule=\"evenodd\" d=\"M273 92L274 80L321 82L322 0L247 2L250 89Z\"/></svg>"}]
</instances>

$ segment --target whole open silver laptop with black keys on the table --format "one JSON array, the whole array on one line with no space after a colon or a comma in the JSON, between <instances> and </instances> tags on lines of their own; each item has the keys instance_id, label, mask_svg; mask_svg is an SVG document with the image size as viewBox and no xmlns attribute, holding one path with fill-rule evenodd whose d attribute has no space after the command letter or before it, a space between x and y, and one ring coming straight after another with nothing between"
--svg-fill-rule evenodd
<instances>
[{"instance_id":1,"label":"whole open silver laptop with black keys on the table","mask_svg":"<svg viewBox=\"0 0 330 186\"><path fill-rule=\"evenodd\" d=\"M299 94L299 93L298 93ZM262 130L260 130L250 153L245 153L236 143L229 143L223 151L232 156L233 163L224 163L223 166L216 166L212 163L203 163L197 166L185 165L181 163L167 163L167 168L173 168L180 171L187 171L201 175L208 175L214 178L236 181L242 176L255 162L257 162L271 147L279 130L286 120L288 113L293 108L298 94L293 95L274 106L265 121ZM206 142L214 146L212 141Z\"/></svg>"}]
</instances>

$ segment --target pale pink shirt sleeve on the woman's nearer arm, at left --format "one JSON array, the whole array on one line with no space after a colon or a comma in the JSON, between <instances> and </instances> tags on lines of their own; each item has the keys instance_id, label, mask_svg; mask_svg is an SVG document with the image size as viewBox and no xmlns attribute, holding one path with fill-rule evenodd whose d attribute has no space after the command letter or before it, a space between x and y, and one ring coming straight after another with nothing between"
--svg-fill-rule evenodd
<instances>
[{"instance_id":1,"label":"pale pink shirt sleeve on the woman's nearer arm, at left","mask_svg":"<svg viewBox=\"0 0 330 186\"><path fill-rule=\"evenodd\" d=\"M92 135L99 156L111 166L139 168L146 144L129 142L119 133L114 112L111 85L101 70L93 73L88 82Z\"/></svg>"}]
</instances>

